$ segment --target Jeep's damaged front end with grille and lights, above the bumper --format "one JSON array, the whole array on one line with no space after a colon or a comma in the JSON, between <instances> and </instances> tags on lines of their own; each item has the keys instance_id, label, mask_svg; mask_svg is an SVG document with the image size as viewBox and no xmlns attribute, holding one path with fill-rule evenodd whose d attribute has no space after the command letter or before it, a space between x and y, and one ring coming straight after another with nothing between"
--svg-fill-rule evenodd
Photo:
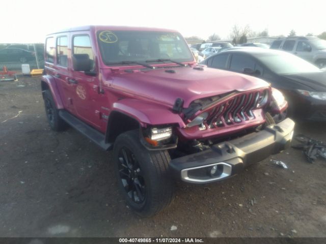
<instances>
[{"instance_id":1,"label":"Jeep's damaged front end with grille and lights, above the bumper","mask_svg":"<svg viewBox=\"0 0 326 244\"><path fill-rule=\"evenodd\" d=\"M195 100L187 108L183 108L183 100L178 98L173 111L180 115L185 126L141 128L141 142L149 150L177 148L178 156L207 150L216 142L259 131L271 124L265 118L266 113L275 116L287 107L284 97L281 101L274 94L270 87L229 92Z\"/></svg>"}]
</instances>

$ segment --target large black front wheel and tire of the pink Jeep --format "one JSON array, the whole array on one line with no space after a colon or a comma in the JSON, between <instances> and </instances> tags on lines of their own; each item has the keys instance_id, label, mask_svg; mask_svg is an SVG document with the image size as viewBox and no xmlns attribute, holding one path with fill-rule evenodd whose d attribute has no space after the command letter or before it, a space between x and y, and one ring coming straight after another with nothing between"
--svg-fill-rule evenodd
<instances>
[{"instance_id":1,"label":"large black front wheel and tire of the pink Jeep","mask_svg":"<svg viewBox=\"0 0 326 244\"><path fill-rule=\"evenodd\" d=\"M139 130L117 137L114 163L119 189L128 206L139 216L153 216L171 203L174 187L170 161L167 150L147 150L140 143Z\"/></svg>"}]
</instances>

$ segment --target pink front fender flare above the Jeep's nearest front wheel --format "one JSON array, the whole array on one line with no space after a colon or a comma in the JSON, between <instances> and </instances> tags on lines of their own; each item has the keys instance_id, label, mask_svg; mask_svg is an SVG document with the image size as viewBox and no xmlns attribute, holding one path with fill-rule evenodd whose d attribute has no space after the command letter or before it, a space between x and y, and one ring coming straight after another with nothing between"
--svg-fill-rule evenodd
<instances>
[{"instance_id":1,"label":"pink front fender flare above the Jeep's nearest front wheel","mask_svg":"<svg viewBox=\"0 0 326 244\"><path fill-rule=\"evenodd\" d=\"M173 113L168 107L155 103L127 98L114 103L112 109L137 119L143 127L164 124L178 124L180 127L185 127L178 114Z\"/></svg>"}]
</instances>

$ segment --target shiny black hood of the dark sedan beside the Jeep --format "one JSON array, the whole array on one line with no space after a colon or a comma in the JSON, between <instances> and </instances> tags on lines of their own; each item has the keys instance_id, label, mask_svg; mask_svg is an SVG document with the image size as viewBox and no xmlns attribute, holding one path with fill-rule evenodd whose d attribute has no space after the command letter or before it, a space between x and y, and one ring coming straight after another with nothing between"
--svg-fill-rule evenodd
<instances>
[{"instance_id":1,"label":"shiny black hood of the dark sedan beside the Jeep","mask_svg":"<svg viewBox=\"0 0 326 244\"><path fill-rule=\"evenodd\" d=\"M287 74L282 76L300 83L300 87L297 87L298 89L326 92L326 70L314 73Z\"/></svg>"}]
</instances>

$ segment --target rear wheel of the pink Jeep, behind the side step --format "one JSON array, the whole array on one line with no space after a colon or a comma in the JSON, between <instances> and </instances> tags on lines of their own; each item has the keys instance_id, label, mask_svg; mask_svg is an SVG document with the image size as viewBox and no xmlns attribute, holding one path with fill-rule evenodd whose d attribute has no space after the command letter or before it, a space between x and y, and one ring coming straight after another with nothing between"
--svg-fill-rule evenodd
<instances>
[{"instance_id":1,"label":"rear wheel of the pink Jeep, behind the side step","mask_svg":"<svg viewBox=\"0 0 326 244\"><path fill-rule=\"evenodd\" d=\"M59 109L57 109L53 101L50 90L45 90L43 94L45 113L47 121L53 131L63 131L67 128L65 121L59 116Z\"/></svg>"}]
</instances>

